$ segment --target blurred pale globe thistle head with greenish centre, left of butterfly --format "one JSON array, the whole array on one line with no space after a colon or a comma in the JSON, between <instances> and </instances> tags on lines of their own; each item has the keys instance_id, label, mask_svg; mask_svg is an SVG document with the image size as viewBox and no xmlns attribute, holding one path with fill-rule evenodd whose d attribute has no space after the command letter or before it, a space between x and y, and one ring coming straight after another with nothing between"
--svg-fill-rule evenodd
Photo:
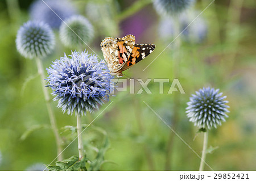
<instances>
[{"instance_id":1,"label":"blurred pale globe thistle head with greenish centre, left of butterfly","mask_svg":"<svg viewBox=\"0 0 256 181\"><path fill-rule=\"evenodd\" d=\"M71 16L60 26L60 40L67 47L79 47L84 42L88 43L92 37L93 26L84 16Z\"/></svg>"}]
</instances>

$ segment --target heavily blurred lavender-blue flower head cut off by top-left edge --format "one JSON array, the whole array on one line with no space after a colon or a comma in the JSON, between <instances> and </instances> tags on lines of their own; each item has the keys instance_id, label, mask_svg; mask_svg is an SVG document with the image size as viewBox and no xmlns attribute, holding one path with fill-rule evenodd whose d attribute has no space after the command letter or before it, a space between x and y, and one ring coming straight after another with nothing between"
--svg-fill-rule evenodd
<instances>
[{"instance_id":1,"label":"heavily blurred lavender-blue flower head cut off by top-left edge","mask_svg":"<svg viewBox=\"0 0 256 181\"><path fill-rule=\"evenodd\" d=\"M77 14L75 6L68 0L38 0L30 7L32 20L45 22L54 29L60 27L62 20L75 14Z\"/></svg>"}]
</instances>

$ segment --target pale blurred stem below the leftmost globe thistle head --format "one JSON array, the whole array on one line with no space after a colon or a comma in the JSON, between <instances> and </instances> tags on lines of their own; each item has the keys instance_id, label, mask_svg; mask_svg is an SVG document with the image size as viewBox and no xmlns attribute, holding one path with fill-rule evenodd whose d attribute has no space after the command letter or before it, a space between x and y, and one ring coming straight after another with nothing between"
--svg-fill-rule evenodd
<instances>
[{"instance_id":1,"label":"pale blurred stem below the leftmost globe thistle head","mask_svg":"<svg viewBox=\"0 0 256 181\"><path fill-rule=\"evenodd\" d=\"M44 99L46 100L46 107L47 107L47 111L49 114L49 120L51 123L51 128L52 131L55 135L55 140L56 140L56 145L57 145L57 160L61 161L63 160L63 155L62 155L62 146L61 146L61 138L57 129L57 124L56 124L56 119L54 116L54 113L52 111L52 107L50 104L50 97L48 94L48 89L46 87L46 81L44 80L45 75L44 75L44 69L43 69L43 63L42 60L40 60L40 58L36 58L36 65L38 66L38 73L40 74L41 77L41 83L42 83L42 89L44 92Z\"/></svg>"}]
</instances>

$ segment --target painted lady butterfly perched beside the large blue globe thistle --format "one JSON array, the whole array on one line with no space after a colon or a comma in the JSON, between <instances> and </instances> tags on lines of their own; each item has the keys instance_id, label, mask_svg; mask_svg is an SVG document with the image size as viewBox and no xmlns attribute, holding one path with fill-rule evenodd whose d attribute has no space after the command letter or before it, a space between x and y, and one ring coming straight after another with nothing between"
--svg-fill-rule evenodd
<instances>
[{"instance_id":1,"label":"painted lady butterfly perched beside the large blue globe thistle","mask_svg":"<svg viewBox=\"0 0 256 181\"><path fill-rule=\"evenodd\" d=\"M154 44L135 44L135 36L113 39L106 37L101 41L101 50L108 63L110 74L122 77L122 71L129 69L155 49Z\"/></svg>"}]
</instances>

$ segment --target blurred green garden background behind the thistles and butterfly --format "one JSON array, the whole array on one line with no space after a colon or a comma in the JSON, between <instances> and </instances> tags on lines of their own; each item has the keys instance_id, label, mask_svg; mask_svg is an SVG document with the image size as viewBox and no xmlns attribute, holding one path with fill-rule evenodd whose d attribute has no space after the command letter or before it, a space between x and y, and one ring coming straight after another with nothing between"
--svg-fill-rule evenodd
<instances>
[{"instance_id":1,"label":"blurred green garden background behind the thistles and butterfly","mask_svg":"<svg viewBox=\"0 0 256 181\"><path fill-rule=\"evenodd\" d=\"M19 27L32 18L33 2L0 1L0 170L43 170L56 157L35 61L23 58L15 45ZM177 35L176 25L179 34L211 2L197 0L185 18L166 18L148 0L71 1L76 14L93 24L89 46L100 57L104 37L133 34L137 43L154 43L156 49L125 74L143 81L170 79L164 94L159 94L159 84L153 81L148 84L152 94L130 94L128 87L110 98L113 103L104 112L110 102L82 117L89 124L101 113L83 133L87 156L97 161L93 170L198 170L200 158L144 102L201 155L203 134L196 133L198 128L188 121L185 108L189 96L205 86L220 89L230 106L226 123L209 132L206 162L213 170L256 169L256 2L214 1L164 50ZM49 16L56 20L54 14ZM43 60L45 68L64 52L71 53L61 44L58 28L54 32L56 46ZM82 48L93 53L86 45ZM167 94L174 78L185 94ZM135 93L140 88L135 81ZM76 137L76 117L62 113L56 105L52 102L65 147ZM75 141L64 151L64 158L77 154ZM205 166L205 170L210 169Z\"/></svg>"}]
</instances>

